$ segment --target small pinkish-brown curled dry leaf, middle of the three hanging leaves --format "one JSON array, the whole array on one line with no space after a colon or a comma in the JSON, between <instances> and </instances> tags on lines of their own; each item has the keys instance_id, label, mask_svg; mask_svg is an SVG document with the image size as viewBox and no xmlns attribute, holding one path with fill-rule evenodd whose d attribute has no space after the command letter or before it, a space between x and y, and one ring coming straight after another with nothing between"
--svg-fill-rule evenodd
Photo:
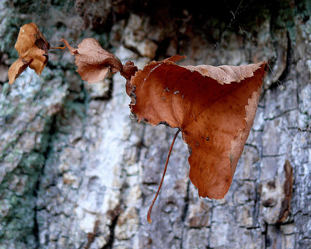
<instances>
[{"instance_id":1,"label":"small pinkish-brown curled dry leaf, middle of the three hanging leaves","mask_svg":"<svg viewBox=\"0 0 311 249\"><path fill-rule=\"evenodd\" d=\"M120 60L114 54L104 50L96 39L82 40L77 49L70 46L65 39L61 39L61 41L72 55L76 55L77 72L83 80L89 83L103 80L108 69L111 73L122 71Z\"/></svg>"}]
</instances>

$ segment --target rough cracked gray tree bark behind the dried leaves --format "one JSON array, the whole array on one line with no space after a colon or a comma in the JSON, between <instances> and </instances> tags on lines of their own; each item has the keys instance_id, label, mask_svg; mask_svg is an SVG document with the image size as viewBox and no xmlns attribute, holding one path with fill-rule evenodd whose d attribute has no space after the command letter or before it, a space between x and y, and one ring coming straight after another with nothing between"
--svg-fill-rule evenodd
<instances>
[{"instance_id":1,"label":"rough cracked gray tree bark behind the dried leaves","mask_svg":"<svg viewBox=\"0 0 311 249\"><path fill-rule=\"evenodd\" d=\"M161 25L126 1L100 2L0 0L0 249L310 248L311 14L284 8L278 21L264 15L247 34L223 28L217 36L198 33L203 24L192 26L185 11L177 34L177 17ZM114 15L126 17L113 22ZM28 68L8 85L15 18L35 22L52 46L96 38L138 68L177 53L188 57L183 65L271 58L273 73L225 198L198 198L179 135L149 224L176 130L132 120L124 78L87 84L65 50L49 51L40 77Z\"/></svg>"}]
</instances>

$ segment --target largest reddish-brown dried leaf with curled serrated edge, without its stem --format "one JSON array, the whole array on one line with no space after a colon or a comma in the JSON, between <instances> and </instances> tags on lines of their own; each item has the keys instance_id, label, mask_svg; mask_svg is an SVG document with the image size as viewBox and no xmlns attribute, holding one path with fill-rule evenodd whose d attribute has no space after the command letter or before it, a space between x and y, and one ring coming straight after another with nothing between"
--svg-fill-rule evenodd
<instances>
[{"instance_id":1,"label":"largest reddish-brown dried leaf with curled serrated edge, without its stem","mask_svg":"<svg viewBox=\"0 0 311 249\"><path fill-rule=\"evenodd\" d=\"M153 61L132 77L127 85L131 112L138 122L181 129L190 180L199 196L220 199L253 125L267 62L238 67L174 63L182 58Z\"/></svg>"}]
</instances>

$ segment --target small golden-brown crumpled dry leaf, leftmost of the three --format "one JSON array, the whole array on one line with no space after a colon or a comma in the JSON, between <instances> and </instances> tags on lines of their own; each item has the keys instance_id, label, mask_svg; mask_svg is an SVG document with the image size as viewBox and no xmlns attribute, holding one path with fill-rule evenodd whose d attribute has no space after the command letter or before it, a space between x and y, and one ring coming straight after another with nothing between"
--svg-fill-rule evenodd
<instances>
[{"instance_id":1,"label":"small golden-brown crumpled dry leaf, leftmost of the three","mask_svg":"<svg viewBox=\"0 0 311 249\"><path fill-rule=\"evenodd\" d=\"M9 84L12 84L28 66L40 75L48 63L50 48L50 44L37 25L34 23L23 25L15 44L19 58L8 71Z\"/></svg>"}]
</instances>

